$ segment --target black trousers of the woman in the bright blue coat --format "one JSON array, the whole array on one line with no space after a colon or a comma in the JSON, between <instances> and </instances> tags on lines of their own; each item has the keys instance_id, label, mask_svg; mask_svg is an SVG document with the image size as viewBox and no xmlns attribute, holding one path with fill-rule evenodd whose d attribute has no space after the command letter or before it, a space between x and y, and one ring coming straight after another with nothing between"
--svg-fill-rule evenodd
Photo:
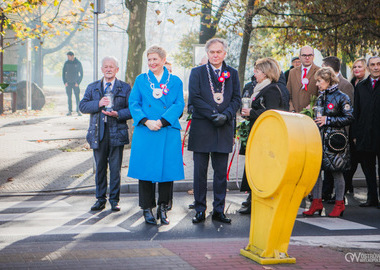
<instances>
[{"instance_id":1,"label":"black trousers of the woman in the bright blue coat","mask_svg":"<svg viewBox=\"0 0 380 270\"><path fill-rule=\"evenodd\" d=\"M168 205L173 198L173 182L158 183L157 204ZM156 206L156 183L151 181L139 180L139 206L142 209L153 208Z\"/></svg>"}]
</instances>

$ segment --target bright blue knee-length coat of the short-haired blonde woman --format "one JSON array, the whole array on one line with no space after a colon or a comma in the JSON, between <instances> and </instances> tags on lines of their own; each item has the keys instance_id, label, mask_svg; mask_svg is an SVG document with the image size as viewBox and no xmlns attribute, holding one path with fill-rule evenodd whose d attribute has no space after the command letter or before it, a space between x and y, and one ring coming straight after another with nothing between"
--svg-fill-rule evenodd
<instances>
[{"instance_id":1,"label":"bright blue knee-length coat of the short-haired blonde woman","mask_svg":"<svg viewBox=\"0 0 380 270\"><path fill-rule=\"evenodd\" d=\"M161 81L149 71L150 81L155 88L165 84L169 72L164 68ZM181 125L179 118L183 112L183 84L175 75L170 75L167 84L169 92L161 98L153 97L153 90L146 73L135 81L129 97L129 109L134 121L131 156L128 176L140 180L169 182L185 178L181 151ZM140 121L164 118L170 123L159 131L151 131Z\"/></svg>"}]
</instances>

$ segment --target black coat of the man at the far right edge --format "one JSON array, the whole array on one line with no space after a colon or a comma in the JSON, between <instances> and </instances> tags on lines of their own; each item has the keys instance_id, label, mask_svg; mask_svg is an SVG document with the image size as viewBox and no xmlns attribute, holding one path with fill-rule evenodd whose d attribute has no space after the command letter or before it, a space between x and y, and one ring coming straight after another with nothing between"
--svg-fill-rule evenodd
<instances>
[{"instance_id":1,"label":"black coat of the man at the far right edge","mask_svg":"<svg viewBox=\"0 0 380 270\"><path fill-rule=\"evenodd\" d=\"M372 88L370 76L356 85L352 137L358 151L380 151L380 83Z\"/></svg>"}]
</instances>

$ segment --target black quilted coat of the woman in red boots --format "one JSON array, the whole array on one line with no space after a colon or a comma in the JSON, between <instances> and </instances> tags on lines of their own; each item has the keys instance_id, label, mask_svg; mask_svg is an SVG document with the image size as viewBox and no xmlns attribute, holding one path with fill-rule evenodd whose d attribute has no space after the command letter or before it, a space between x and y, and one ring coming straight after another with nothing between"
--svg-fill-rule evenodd
<instances>
[{"instance_id":1,"label":"black quilted coat of the woman in red boots","mask_svg":"<svg viewBox=\"0 0 380 270\"><path fill-rule=\"evenodd\" d=\"M322 115L327 116L326 124L320 128L323 146L323 170L344 171L349 169L350 153L348 140L344 150L336 152L328 147L327 139L334 131L340 131L348 137L345 127L353 121L353 109L350 98L335 86L323 91L318 96L316 106L322 107Z\"/></svg>"}]
</instances>

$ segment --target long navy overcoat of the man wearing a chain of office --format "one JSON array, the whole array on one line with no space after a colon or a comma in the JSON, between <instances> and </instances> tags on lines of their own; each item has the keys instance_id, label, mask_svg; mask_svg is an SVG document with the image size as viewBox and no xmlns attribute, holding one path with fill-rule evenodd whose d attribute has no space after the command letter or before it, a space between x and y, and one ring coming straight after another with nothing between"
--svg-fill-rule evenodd
<instances>
[{"instance_id":1,"label":"long navy overcoat of the man wearing a chain of office","mask_svg":"<svg viewBox=\"0 0 380 270\"><path fill-rule=\"evenodd\" d=\"M209 65L210 79L215 92L221 92L222 83L218 81L211 65L209 63L206 65ZM235 116L241 104L238 72L223 62L222 72L228 71L230 77L225 80L224 100L221 104L217 104L211 92L206 65L193 68L190 74L189 103L193 105L194 111L188 149L202 153L231 153ZM216 127L213 125L212 115L216 113L227 116L227 121L223 126Z\"/></svg>"}]
</instances>

